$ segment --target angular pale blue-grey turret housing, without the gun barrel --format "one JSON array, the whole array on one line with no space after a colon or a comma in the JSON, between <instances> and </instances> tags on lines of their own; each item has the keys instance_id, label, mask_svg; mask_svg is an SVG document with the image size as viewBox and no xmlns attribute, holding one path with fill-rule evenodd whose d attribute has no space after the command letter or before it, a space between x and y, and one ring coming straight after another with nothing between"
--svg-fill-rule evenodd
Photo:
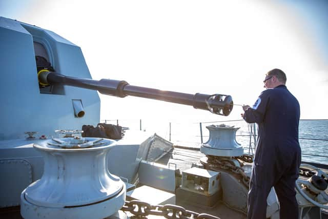
<instances>
[{"instance_id":1,"label":"angular pale blue-grey turret housing, without the gun barrel","mask_svg":"<svg viewBox=\"0 0 328 219\"><path fill-rule=\"evenodd\" d=\"M28 131L48 136L63 124L66 129L80 129L85 124L99 122L97 91L57 86L52 93L40 93L38 86L35 55L47 56L57 73L91 78L78 46L52 31L5 17L0 17L0 33L0 72L7 72L0 74L2 93L6 92L0 95L0 103L10 100L10 104L1 108L0 140L22 139ZM34 49L36 43L43 47L42 53ZM83 103L83 117L74 116L72 99Z\"/></svg>"}]
</instances>

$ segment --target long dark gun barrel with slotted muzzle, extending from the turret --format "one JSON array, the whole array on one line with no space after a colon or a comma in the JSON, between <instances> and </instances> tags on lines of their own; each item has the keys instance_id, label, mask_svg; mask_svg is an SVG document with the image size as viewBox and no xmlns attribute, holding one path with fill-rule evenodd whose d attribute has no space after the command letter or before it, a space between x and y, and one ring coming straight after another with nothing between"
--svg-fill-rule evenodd
<instances>
[{"instance_id":1,"label":"long dark gun barrel with slotted muzzle, extending from the turret","mask_svg":"<svg viewBox=\"0 0 328 219\"><path fill-rule=\"evenodd\" d=\"M230 95L223 94L188 94L174 91L163 91L153 88L138 87L113 79L93 79L69 77L63 74L42 71L38 74L39 83L42 85L67 85L79 88L97 90L101 94L125 97L137 96L149 99L157 99L170 103L193 106L195 109L209 110L218 115L229 115L233 109L233 101Z\"/></svg>"}]
</instances>

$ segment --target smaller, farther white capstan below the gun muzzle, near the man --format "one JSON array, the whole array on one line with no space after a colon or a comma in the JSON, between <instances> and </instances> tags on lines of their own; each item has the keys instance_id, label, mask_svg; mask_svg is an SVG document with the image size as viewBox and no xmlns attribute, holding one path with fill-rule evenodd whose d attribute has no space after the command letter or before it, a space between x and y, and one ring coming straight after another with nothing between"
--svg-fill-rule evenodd
<instances>
[{"instance_id":1,"label":"smaller, farther white capstan below the gun muzzle, near the man","mask_svg":"<svg viewBox=\"0 0 328 219\"><path fill-rule=\"evenodd\" d=\"M207 126L210 131L209 140L202 144L200 151L206 155L214 156L240 156L243 148L236 142L236 131L234 126Z\"/></svg>"}]
</instances>

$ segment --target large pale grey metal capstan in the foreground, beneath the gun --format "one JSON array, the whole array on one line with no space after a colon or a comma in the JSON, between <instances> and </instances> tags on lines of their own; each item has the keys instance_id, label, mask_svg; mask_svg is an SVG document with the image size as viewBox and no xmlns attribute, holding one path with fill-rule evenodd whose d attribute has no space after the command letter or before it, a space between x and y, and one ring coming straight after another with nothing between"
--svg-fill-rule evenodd
<instances>
[{"instance_id":1,"label":"large pale grey metal capstan in the foreground, beneath the gun","mask_svg":"<svg viewBox=\"0 0 328 219\"><path fill-rule=\"evenodd\" d=\"M98 205L106 206L106 216L112 215L124 205L125 184L108 170L107 153L116 142L99 139L86 138L87 142L97 142L97 145L90 148L64 149L55 146L53 140L33 145L43 154L45 169L42 178L22 193L21 213L28 216L25 218L35 218L31 209L24 207L26 203L37 207L38 211L53 212L54 215L55 212L74 211L66 210L70 207L82 213L87 205L93 212L92 218L104 218L104 212L97 211ZM60 141L68 142L69 138L61 138ZM90 209L90 206L94 209Z\"/></svg>"}]
</instances>

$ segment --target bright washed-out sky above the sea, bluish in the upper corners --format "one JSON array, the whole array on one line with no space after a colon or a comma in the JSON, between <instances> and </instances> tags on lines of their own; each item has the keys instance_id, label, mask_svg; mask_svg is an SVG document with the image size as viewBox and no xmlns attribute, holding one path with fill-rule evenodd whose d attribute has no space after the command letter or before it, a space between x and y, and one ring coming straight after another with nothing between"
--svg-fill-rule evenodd
<instances>
[{"instance_id":1,"label":"bright washed-out sky above the sea, bluish in the upper corners","mask_svg":"<svg viewBox=\"0 0 328 219\"><path fill-rule=\"evenodd\" d=\"M307 3L309 2L309 3ZM229 94L252 105L273 68L287 75L301 118L327 118L326 1L18 1L0 16L81 47L94 79L184 93ZM101 119L236 120L191 106L101 95Z\"/></svg>"}]
</instances>

